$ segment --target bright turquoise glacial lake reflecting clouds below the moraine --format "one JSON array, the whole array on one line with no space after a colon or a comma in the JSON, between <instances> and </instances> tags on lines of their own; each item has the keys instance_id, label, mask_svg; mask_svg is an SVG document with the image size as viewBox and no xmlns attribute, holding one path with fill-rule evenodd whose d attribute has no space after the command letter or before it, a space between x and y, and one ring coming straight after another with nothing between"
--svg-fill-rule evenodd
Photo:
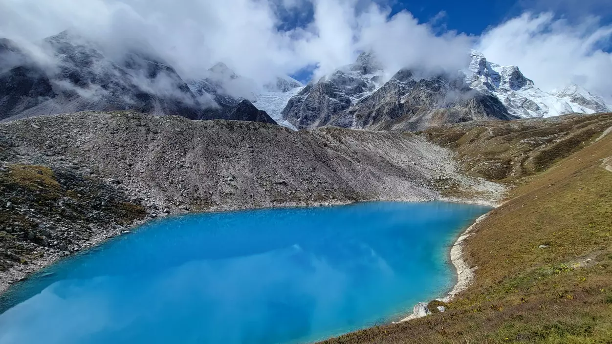
<instances>
[{"instance_id":1,"label":"bright turquoise glacial lake reflecting clouds below the moraine","mask_svg":"<svg viewBox=\"0 0 612 344\"><path fill-rule=\"evenodd\" d=\"M300 343L398 320L455 282L489 208L375 202L158 220L0 298L0 343Z\"/></svg>"}]
</instances>

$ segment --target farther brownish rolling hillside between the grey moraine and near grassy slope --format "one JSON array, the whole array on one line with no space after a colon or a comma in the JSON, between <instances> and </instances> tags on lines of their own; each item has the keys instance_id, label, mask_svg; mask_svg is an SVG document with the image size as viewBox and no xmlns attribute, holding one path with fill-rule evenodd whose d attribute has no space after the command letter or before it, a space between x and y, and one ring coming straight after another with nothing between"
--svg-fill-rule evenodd
<instances>
[{"instance_id":1,"label":"farther brownish rolling hillside between the grey moraine and near grassy slope","mask_svg":"<svg viewBox=\"0 0 612 344\"><path fill-rule=\"evenodd\" d=\"M520 121L472 121L428 129L433 143L453 149L463 170L493 181L515 182L547 170L588 146L608 127L612 114L570 114Z\"/></svg>"}]
</instances>

